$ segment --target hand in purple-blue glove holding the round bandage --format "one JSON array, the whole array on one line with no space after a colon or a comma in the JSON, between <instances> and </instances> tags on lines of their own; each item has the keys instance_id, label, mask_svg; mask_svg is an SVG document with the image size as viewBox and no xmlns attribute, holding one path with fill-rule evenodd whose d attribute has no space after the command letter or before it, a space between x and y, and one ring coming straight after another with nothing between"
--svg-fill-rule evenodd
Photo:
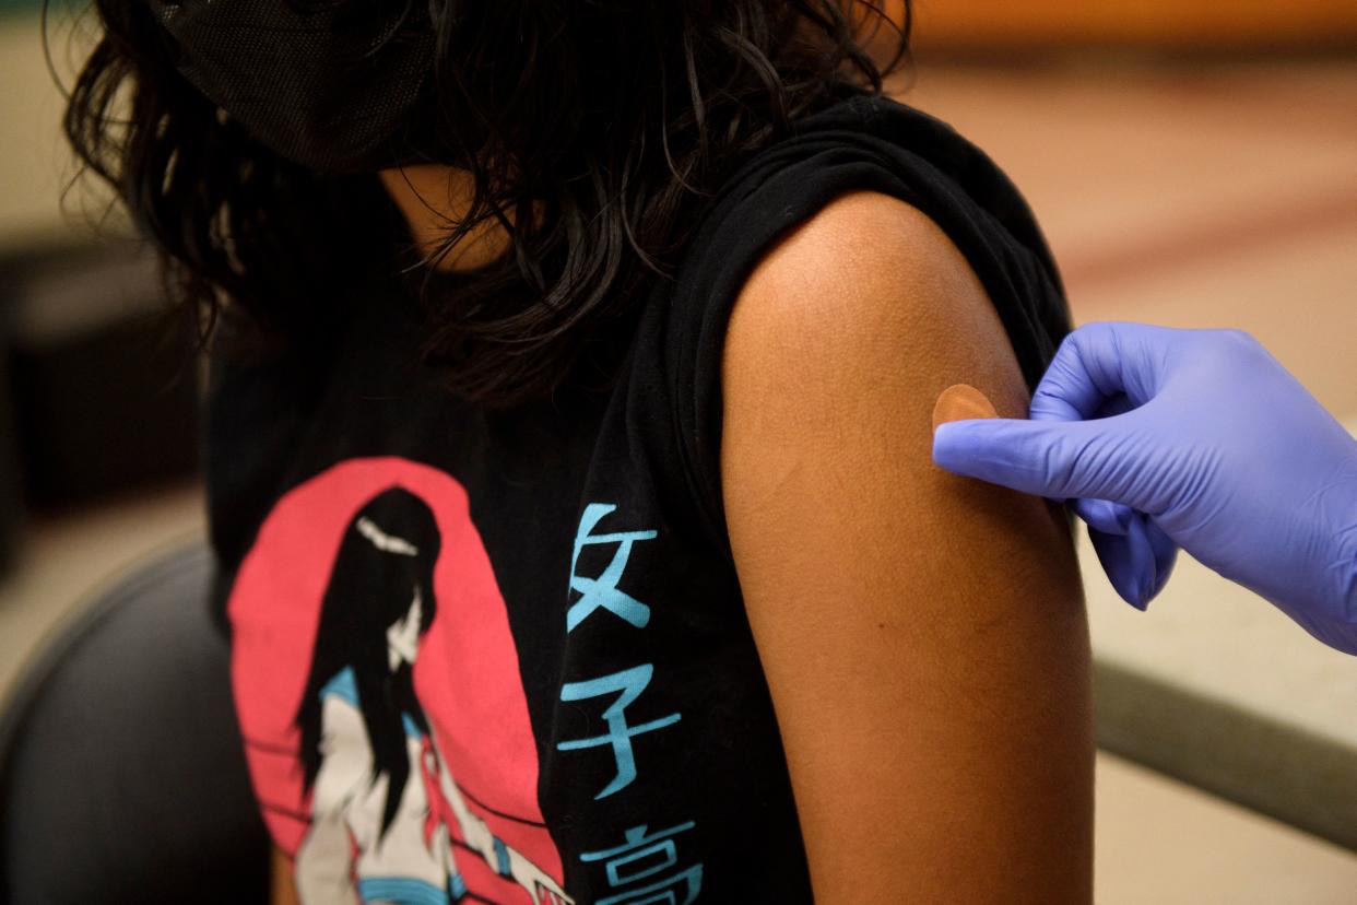
<instances>
[{"instance_id":1,"label":"hand in purple-blue glove holding the round bandage","mask_svg":"<svg viewBox=\"0 0 1357 905\"><path fill-rule=\"evenodd\" d=\"M934 461L1072 499L1132 605L1182 547L1357 654L1357 440L1248 334L1082 327L1031 421L944 423Z\"/></svg>"}]
</instances>

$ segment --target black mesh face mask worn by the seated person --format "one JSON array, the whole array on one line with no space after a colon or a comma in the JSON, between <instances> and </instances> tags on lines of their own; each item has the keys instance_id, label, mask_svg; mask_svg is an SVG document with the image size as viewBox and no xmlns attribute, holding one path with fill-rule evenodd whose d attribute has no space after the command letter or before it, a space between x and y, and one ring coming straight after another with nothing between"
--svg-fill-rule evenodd
<instances>
[{"instance_id":1,"label":"black mesh face mask worn by the seated person","mask_svg":"<svg viewBox=\"0 0 1357 905\"><path fill-rule=\"evenodd\" d=\"M429 159L425 0L148 0L175 66L255 140L362 172Z\"/></svg>"}]
</instances>

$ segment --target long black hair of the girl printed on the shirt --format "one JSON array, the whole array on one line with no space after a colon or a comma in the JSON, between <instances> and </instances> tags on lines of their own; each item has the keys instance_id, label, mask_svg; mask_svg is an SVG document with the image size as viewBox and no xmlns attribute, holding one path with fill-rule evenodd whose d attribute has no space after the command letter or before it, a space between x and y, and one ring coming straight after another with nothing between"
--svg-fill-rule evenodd
<instances>
[{"instance_id":1,"label":"long black hair of the girl printed on the shirt","mask_svg":"<svg viewBox=\"0 0 1357 905\"><path fill-rule=\"evenodd\" d=\"M354 516L330 573L311 673L297 707L304 788L309 790L322 760L320 689L342 669L353 669L358 708L372 745L372 782L387 776L383 834L396 815L410 777L404 716L429 731L415 697L411 665L402 661L391 669L387 630L404 619L415 594L421 601L419 635L429 630L436 608L433 566L438 548L433 512L400 487L373 497Z\"/></svg>"}]
</instances>

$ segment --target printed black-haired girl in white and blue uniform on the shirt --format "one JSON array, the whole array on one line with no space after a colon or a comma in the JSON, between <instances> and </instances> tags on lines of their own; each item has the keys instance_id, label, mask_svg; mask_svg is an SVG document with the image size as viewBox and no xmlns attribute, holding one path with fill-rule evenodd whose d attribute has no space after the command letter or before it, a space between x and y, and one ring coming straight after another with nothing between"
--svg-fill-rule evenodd
<instances>
[{"instance_id":1,"label":"printed black-haired girl in white and blue uniform on the shirt","mask_svg":"<svg viewBox=\"0 0 1357 905\"><path fill-rule=\"evenodd\" d=\"M415 696L440 545L429 506L399 487L369 501L341 543L296 714L311 826L294 877L308 905L457 902L459 856L533 902L571 901L467 807Z\"/></svg>"}]
</instances>

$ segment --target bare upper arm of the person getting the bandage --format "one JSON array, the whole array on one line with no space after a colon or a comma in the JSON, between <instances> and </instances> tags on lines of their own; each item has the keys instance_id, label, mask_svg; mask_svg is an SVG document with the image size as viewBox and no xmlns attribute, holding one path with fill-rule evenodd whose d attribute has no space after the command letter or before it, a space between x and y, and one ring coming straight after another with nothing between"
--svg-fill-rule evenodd
<instances>
[{"instance_id":1,"label":"bare upper arm of the person getting the bandage","mask_svg":"<svg viewBox=\"0 0 1357 905\"><path fill-rule=\"evenodd\" d=\"M1068 524L931 460L946 387L1027 411L965 258L901 201L840 197L746 281L722 381L730 543L816 901L1091 901Z\"/></svg>"}]
</instances>

